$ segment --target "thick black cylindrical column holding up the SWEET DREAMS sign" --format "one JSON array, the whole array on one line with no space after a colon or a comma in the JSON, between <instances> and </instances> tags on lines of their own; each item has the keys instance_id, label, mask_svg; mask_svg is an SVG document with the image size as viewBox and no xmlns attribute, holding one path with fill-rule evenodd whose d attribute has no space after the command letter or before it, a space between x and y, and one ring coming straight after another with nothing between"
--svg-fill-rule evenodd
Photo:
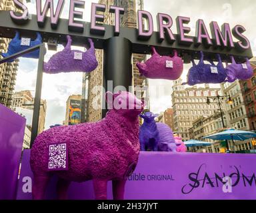
<instances>
[{"instance_id":1,"label":"thick black cylindrical column holding up the SWEET DREAMS sign","mask_svg":"<svg viewBox=\"0 0 256 213\"><path fill-rule=\"evenodd\" d=\"M123 37L112 37L105 41L103 48L103 87L105 92L112 90L112 88L107 88L107 81L113 81L113 90L117 86L123 86L129 91L129 86L132 85L133 79L131 41ZM111 92L113 93L113 91ZM105 94L103 94L102 118L107 113L107 109L104 107L107 108Z\"/></svg>"}]
</instances>

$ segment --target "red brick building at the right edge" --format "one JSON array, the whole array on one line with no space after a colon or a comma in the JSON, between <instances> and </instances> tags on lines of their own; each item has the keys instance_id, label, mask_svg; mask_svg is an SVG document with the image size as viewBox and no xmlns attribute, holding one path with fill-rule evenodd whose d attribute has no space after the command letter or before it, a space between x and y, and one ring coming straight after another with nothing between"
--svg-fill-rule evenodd
<instances>
[{"instance_id":1,"label":"red brick building at the right edge","mask_svg":"<svg viewBox=\"0 0 256 213\"><path fill-rule=\"evenodd\" d=\"M249 130L256 130L256 65L251 66L254 69L254 75L248 81L239 81L243 100L245 101L245 110L249 122Z\"/></svg>"}]
</instances>

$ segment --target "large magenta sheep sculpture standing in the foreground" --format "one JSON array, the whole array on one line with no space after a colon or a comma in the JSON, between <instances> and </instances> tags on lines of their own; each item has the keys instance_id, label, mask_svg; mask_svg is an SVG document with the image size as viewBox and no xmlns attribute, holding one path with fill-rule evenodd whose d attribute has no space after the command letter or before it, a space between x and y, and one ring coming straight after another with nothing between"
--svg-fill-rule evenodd
<instances>
[{"instance_id":1,"label":"large magenta sheep sculpture standing in the foreground","mask_svg":"<svg viewBox=\"0 0 256 213\"><path fill-rule=\"evenodd\" d=\"M44 198L47 182L56 174L57 196L61 200L67 199L72 181L87 180L93 180L97 200L107 199L109 180L113 183L113 198L123 200L125 182L139 158L139 114L143 103L135 95L121 91L114 95L107 92L106 100L111 109L103 120L56 126L37 136L30 159L33 199ZM49 172L49 146L60 142L67 144L68 169Z\"/></svg>"}]
</instances>

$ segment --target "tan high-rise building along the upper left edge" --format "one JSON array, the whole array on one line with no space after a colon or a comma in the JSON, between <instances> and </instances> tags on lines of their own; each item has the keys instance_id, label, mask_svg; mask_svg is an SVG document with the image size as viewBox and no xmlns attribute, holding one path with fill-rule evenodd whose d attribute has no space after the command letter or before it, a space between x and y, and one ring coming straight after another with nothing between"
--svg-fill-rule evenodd
<instances>
[{"instance_id":1,"label":"tan high-rise building along the upper left edge","mask_svg":"<svg viewBox=\"0 0 256 213\"><path fill-rule=\"evenodd\" d=\"M0 10L13 10L15 9L12 0L1 0ZM10 39L0 37L0 52L7 51ZM0 103L6 107L11 107L13 100L13 91L17 76L17 69L19 66L19 59L13 63L3 63L0 65Z\"/></svg>"}]
</instances>

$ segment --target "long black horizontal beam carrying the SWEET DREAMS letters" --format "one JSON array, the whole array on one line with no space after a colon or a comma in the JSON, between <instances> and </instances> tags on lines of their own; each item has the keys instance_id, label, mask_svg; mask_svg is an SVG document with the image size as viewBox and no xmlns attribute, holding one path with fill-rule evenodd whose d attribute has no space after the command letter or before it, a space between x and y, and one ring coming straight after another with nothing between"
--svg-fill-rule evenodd
<instances>
[{"instance_id":1,"label":"long black horizontal beam carrying the SWEET DREAMS letters","mask_svg":"<svg viewBox=\"0 0 256 213\"><path fill-rule=\"evenodd\" d=\"M86 38L93 39L95 43L95 48L103 49L103 42L111 37L115 37L114 26L103 25L105 27L104 35L97 35L90 30L90 23L84 23L83 32L69 31L68 27L69 21L67 19L59 19L59 23L56 29L51 28L51 23L49 17L45 20L45 26L39 27L37 25L36 15L32 15L32 19L28 20L27 23L17 24L14 23L9 15L9 11L0 11L0 37L13 38L15 36L15 30L21 32L21 35L26 37L35 38L35 32L41 33L43 41L47 42L50 37L58 39L59 44L66 43L65 35L71 35L73 38L73 45L84 46ZM159 41L159 33L153 32L153 35L149 40L142 40L138 37L138 30L135 28L121 27L119 37L125 37L129 39L132 43L133 53L142 53L149 54L151 53L151 46L155 46L160 55L169 55L172 52L172 49L177 49L179 55L181 55L185 61L189 61L190 57L193 55L194 59L199 58L199 51L205 53L205 57L216 61L216 53L221 55L223 61L230 61L230 55L233 55L235 59L239 62L244 62L245 57L251 59L253 53L251 49L247 51L239 51L236 48L215 48L213 46L207 48L203 44L198 47L195 45L181 45L179 39L171 44L167 39ZM175 35L175 38L178 38L178 35ZM191 37L195 39L195 37ZM125 51L125 50L124 50Z\"/></svg>"}]
</instances>

